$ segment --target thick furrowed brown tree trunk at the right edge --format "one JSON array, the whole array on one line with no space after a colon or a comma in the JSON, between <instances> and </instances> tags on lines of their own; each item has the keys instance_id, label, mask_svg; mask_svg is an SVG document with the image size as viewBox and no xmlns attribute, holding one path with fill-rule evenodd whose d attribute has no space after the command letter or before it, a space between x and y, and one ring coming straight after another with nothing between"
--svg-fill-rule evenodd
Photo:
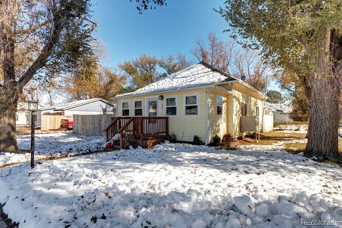
<instances>
[{"instance_id":1,"label":"thick furrowed brown tree trunk at the right edge","mask_svg":"<svg viewBox=\"0 0 342 228\"><path fill-rule=\"evenodd\" d=\"M342 161L338 152L341 41L337 30L328 29L326 37L316 37L311 52L315 68L310 72L310 130L304 155L318 160Z\"/></svg>"}]
</instances>

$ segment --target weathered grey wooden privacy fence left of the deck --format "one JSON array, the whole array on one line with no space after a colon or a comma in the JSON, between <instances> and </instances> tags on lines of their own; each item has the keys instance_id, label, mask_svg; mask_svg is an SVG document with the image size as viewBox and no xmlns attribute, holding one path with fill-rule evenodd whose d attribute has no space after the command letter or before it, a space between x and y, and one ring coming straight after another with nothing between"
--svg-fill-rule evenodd
<instances>
[{"instance_id":1,"label":"weathered grey wooden privacy fence left of the deck","mask_svg":"<svg viewBox=\"0 0 342 228\"><path fill-rule=\"evenodd\" d=\"M111 122L113 114L73 115L73 132L87 136L105 136L103 128Z\"/></svg>"}]
</instances>

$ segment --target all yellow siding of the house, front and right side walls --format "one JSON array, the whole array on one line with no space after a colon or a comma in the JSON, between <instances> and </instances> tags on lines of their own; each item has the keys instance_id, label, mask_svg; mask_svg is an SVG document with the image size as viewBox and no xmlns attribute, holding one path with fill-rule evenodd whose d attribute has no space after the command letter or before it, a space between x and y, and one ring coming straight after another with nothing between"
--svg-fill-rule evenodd
<instances>
[{"instance_id":1,"label":"all yellow siding of the house, front and right side walls","mask_svg":"<svg viewBox=\"0 0 342 228\"><path fill-rule=\"evenodd\" d=\"M122 102L129 102L129 116L134 116L134 102L142 101L143 116L147 116L147 100L154 98L159 102L159 115L165 116L166 98L175 97L177 100L177 116L169 117L169 134L175 134L179 141L193 141L194 136L198 136L203 143L206 142L206 132L208 130L208 142L213 140L215 135L222 138L224 134L231 134L233 138L244 136L245 132L240 132L241 107L240 102L248 104L248 116L256 116L256 107L259 107L259 119L261 123L262 96L250 89L233 83L224 88L232 90L228 93L216 88L201 88L185 91L162 92L148 96L136 96L117 99L117 116L122 116ZM208 93L208 106L207 96ZM184 115L184 98L186 94L198 94L199 115ZM159 101L159 96L163 95L164 100ZM216 97L223 97L222 115L217 115ZM206 122L208 107L208 129Z\"/></svg>"}]
</instances>

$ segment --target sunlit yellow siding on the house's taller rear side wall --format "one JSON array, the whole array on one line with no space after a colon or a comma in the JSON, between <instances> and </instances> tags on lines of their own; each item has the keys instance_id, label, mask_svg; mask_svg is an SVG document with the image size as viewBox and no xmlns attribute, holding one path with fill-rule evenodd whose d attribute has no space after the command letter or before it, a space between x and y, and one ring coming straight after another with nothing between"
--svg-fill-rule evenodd
<instances>
[{"instance_id":1,"label":"sunlit yellow siding on the house's taller rear side wall","mask_svg":"<svg viewBox=\"0 0 342 228\"><path fill-rule=\"evenodd\" d=\"M248 106L248 116L256 116L256 107L259 107L259 122L261 124L262 115L262 98L257 96L250 89L245 88L239 84L233 84L233 137L244 136L245 132L240 132L240 117L241 117L241 104L246 103Z\"/></svg>"}]
</instances>

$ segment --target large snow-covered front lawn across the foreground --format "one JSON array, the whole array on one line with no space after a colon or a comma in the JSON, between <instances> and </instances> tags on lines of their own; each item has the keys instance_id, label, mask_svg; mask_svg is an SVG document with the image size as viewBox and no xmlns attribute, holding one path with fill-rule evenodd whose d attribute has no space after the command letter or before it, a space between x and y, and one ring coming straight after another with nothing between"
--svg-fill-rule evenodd
<instances>
[{"instance_id":1,"label":"large snow-covered front lawn across the foreground","mask_svg":"<svg viewBox=\"0 0 342 228\"><path fill-rule=\"evenodd\" d=\"M165 143L43 161L33 170L24 163L0 171L0 203L20 227L342 221L342 168L283 149L281 143L231 151Z\"/></svg>"}]
</instances>

